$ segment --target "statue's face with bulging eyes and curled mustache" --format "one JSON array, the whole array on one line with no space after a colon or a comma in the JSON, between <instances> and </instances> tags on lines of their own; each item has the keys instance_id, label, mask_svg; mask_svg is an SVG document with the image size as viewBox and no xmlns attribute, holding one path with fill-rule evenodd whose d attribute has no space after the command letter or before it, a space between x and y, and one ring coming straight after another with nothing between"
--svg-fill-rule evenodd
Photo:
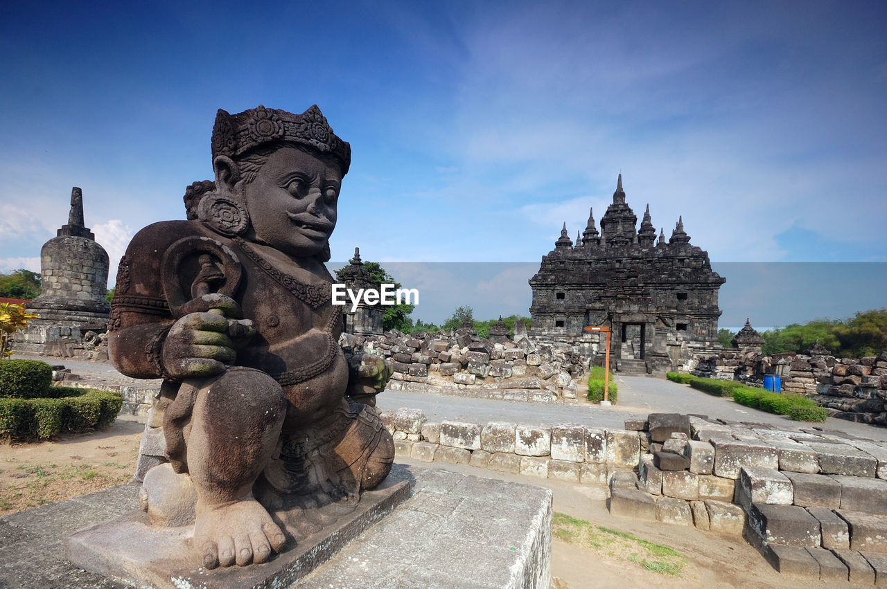
<instances>
[{"instance_id":1,"label":"statue's face with bulging eyes and curled mustache","mask_svg":"<svg viewBox=\"0 0 887 589\"><path fill-rule=\"evenodd\" d=\"M294 147L274 151L243 187L256 239L294 257L320 252L335 228L340 189L338 165Z\"/></svg>"}]
</instances>

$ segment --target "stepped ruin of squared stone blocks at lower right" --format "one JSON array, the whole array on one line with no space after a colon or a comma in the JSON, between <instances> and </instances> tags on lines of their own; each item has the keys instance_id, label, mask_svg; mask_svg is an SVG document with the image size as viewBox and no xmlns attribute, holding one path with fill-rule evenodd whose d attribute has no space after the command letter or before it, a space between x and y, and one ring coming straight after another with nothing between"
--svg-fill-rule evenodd
<instances>
[{"instance_id":1,"label":"stepped ruin of squared stone blocks at lower right","mask_svg":"<svg viewBox=\"0 0 887 589\"><path fill-rule=\"evenodd\" d=\"M640 456L638 479L611 477L614 515L703 530L732 521L727 527L741 528L781 572L867 585L887 579L883 443L678 414L626 427L646 431L650 452Z\"/></svg>"}]
</instances>

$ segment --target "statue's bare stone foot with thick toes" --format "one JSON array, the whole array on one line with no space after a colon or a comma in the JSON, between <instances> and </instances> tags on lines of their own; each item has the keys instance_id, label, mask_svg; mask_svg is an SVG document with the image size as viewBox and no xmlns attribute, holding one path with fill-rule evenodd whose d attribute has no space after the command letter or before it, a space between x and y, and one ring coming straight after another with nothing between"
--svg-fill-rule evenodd
<instances>
[{"instance_id":1,"label":"statue's bare stone foot with thick toes","mask_svg":"<svg viewBox=\"0 0 887 589\"><path fill-rule=\"evenodd\" d=\"M265 562L280 552L287 537L258 501L249 498L221 506L197 506L194 545L207 569Z\"/></svg>"}]
</instances>

